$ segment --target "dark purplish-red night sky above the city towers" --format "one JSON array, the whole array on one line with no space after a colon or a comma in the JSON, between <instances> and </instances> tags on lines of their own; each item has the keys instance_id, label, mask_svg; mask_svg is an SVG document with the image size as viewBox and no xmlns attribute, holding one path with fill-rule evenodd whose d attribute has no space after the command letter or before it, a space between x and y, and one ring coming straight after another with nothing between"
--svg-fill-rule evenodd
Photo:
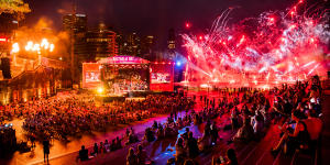
<instances>
[{"instance_id":1,"label":"dark purplish-red night sky above the city towers","mask_svg":"<svg viewBox=\"0 0 330 165\"><path fill-rule=\"evenodd\" d=\"M72 10L73 0L25 0L32 12L26 23L33 24L41 16L54 21L61 30L62 14ZM238 7L231 14L232 22L255 16L263 11L284 10L297 0L76 0L78 13L88 15L89 26L105 22L117 32L152 34L166 40L168 30L180 32L185 22L191 31L205 30L224 9Z\"/></svg>"}]
</instances>

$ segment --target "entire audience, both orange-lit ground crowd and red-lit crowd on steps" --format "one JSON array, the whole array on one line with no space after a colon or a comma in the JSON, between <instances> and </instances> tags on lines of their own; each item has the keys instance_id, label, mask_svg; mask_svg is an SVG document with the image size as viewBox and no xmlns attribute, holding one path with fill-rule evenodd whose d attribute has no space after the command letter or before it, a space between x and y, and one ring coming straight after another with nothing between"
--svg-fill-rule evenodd
<instances>
[{"instance_id":1,"label":"entire audience, both orange-lit ground crowd and red-lit crowd on steps","mask_svg":"<svg viewBox=\"0 0 330 165\"><path fill-rule=\"evenodd\" d=\"M73 97L20 106L15 114L25 117L24 129L28 132L40 135L45 134L45 130L52 130L61 136L67 136L103 129L109 124L129 123L148 118L153 113L170 113L164 123L154 122L145 129L142 139L146 142L176 139L175 157L168 160L168 164L194 164L194 158L200 153L217 145L220 139L219 130L226 130L218 128L217 120L222 121L223 118L231 121L228 131L234 133L228 143L257 141L263 138L270 125L277 124L283 133L278 138L278 144L271 151L274 154L282 148L284 153L310 150L315 147L322 130L322 89L317 76L308 81L297 81L290 86L284 84L279 88L268 90L239 88L235 91L223 91L217 103L215 99L201 96L200 101L205 105L201 111L191 110L195 99L196 97L189 100L182 96L152 95L143 101L113 102L97 107L92 101L80 101L79 98ZM178 118L179 110L191 111ZM196 139L188 127L201 123L205 123L202 136ZM180 129L185 129L186 132L179 134ZM51 134L51 131L47 131L47 134ZM100 144L96 143L90 152L81 146L78 157L85 161L99 153L119 150L124 139L127 145L139 142L134 130L128 129L123 139L117 138L111 143L107 140ZM134 148L129 150L127 164L144 164L146 160L151 158L142 145L139 145L136 152ZM237 165L239 162L234 150L229 148L226 155L213 156L212 164Z\"/></svg>"}]
</instances>

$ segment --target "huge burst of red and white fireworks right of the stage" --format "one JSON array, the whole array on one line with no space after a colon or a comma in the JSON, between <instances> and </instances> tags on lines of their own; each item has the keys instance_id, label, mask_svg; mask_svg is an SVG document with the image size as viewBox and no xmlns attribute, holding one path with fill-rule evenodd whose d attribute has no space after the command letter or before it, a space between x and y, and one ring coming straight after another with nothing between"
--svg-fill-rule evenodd
<instances>
[{"instance_id":1,"label":"huge burst of red and white fireworks right of the stage","mask_svg":"<svg viewBox=\"0 0 330 165\"><path fill-rule=\"evenodd\" d=\"M324 75L328 10L310 8L298 14L301 6L300 0L286 12L264 12L231 26L228 20L233 9L227 9L204 37L183 34L188 66L195 66L188 80L277 82Z\"/></svg>"}]
</instances>

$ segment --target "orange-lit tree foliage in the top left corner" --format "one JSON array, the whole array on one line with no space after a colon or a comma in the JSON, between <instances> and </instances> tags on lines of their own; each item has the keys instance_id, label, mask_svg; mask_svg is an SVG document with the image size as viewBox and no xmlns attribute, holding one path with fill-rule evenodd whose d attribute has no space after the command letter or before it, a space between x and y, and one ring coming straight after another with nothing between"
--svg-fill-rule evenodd
<instances>
[{"instance_id":1,"label":"orange-lit tree foliage in the top left corner","mask_svg":"<svg viewBox=\"0 0 330 165\"><path fill-rule=\"evenodd\" d=\"M31 12L28 3L23 0L0 0L0 14L1 13L15 13L22 14Z\"/></svg>"}]
</instances>

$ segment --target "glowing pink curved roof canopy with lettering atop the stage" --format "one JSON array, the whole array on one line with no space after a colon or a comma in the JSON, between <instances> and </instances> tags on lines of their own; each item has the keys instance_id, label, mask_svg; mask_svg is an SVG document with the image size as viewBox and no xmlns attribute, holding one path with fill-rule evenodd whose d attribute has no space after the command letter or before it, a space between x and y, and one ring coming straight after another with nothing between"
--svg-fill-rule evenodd
<instances>
[{"instance_id":1,"label":"glowing pink curved roof canopy with lettering atop the stage","mask_svg":"<svg viewBox=\"0 0 330 165\"><path fill-rule=\"evenodd\" d=\"M99 64L113 65L113 64L150 64L148 61L134 57L134 56L113 56L108 58L102 58L98 61Z\"/></svg>"}]
</instances>

